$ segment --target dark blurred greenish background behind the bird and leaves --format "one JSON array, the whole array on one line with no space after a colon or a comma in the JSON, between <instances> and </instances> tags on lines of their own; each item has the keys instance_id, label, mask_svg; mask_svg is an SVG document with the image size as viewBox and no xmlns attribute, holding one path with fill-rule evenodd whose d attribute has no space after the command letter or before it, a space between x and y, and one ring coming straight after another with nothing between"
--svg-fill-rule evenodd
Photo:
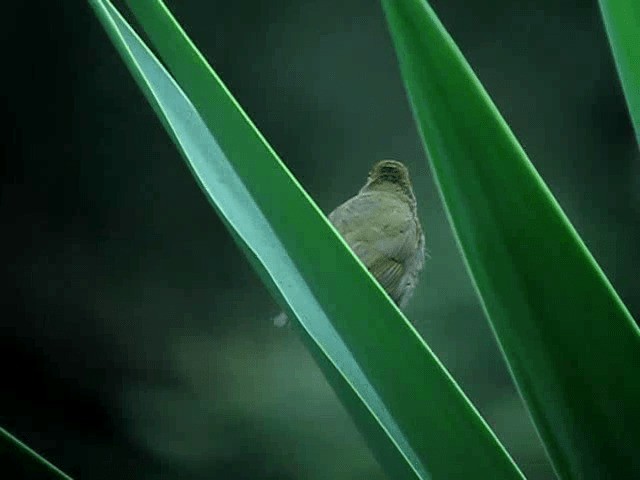
<instances>
[{"instance_id":1,"label":"dark blurred greenish background behind the bird and leaves","mask_svg":"<svg viewBox=\"0 0 640 480\"><path fill-rule=\"evenodd\" d=\"M553 478L483 317L373 0L168 1L324 211L405 161L408 309L530 479ZM640 156L595 0L433 0L632 314ZM3 7L0 424L77 478L383 479L86 2ZM425 408L429 408L425 406Z\"/></svg>"}]
</instances>

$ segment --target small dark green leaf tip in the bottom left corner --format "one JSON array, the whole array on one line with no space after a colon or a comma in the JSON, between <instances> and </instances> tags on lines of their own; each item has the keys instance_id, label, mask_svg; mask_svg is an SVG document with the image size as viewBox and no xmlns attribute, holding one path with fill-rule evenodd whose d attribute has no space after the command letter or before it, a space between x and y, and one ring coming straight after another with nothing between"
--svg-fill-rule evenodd
<instances>
[{"instance_id":1,"label":"small dark green leaf tip in the bottom left corner","mask_svg":"<svg viewBox=\"0 0 640 480\"><path fill-rule=\"evenodd\" d=\"M19 475L20 478L71 480L70 476L2 427L0 427L0 459L2 460L0 473L10 475L11 478L17 478L16 475Z\"/></svg>"}]
</instances>

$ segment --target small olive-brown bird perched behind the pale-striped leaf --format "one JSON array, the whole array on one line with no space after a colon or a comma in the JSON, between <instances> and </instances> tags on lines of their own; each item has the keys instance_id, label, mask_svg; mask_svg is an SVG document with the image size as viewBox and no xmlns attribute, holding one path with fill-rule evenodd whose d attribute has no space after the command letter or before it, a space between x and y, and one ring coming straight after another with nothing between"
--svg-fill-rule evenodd
<instances>
[{"instance_id":1,"label":"small olive-brown bird perched behind the pale-striped leaf","mask_svg":"<svg viewBox=\"0 0 640 480\"><path fill-rule=\"evenodd\" d=\"M376 163L355 197L329 214L353 253L404 309L424 265L424 234L409 171L401 162ZM288 323L284 312L274 324Z\"/></svg>"}]
</instances>

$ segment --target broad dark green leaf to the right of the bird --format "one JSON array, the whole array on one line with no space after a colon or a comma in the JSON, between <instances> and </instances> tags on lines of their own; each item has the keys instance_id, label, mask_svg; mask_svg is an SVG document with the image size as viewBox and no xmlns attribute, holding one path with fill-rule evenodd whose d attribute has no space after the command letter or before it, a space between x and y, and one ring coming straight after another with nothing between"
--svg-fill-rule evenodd
<instances>
[{"instance_id":1,"label":"broad dark green leaf to the right of the bird","mask_svg":"<svg viewBox=\"0 0 640 480\"><path fill-rule=\"evenodd\" d=\"M467 267L564 479L640 478L640 332L431 7L383 0Z\"/></svg>"}]
</instances>

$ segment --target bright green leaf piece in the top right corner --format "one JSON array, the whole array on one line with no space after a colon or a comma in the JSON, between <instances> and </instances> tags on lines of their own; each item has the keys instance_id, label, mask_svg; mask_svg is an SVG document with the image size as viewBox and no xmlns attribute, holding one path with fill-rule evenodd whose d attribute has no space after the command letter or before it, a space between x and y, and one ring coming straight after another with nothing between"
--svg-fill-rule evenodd
<instances>
[{"instance_id":1,"label":"bright green leaf piece in the top right corner","mask_svg":"<svg viewBox=\"0 0 640 480\"><path fill-rule=\"evenodd\" d=\"M600 0L600 10L640 145L640 2Z\"/></svg>"}]
</instances>

